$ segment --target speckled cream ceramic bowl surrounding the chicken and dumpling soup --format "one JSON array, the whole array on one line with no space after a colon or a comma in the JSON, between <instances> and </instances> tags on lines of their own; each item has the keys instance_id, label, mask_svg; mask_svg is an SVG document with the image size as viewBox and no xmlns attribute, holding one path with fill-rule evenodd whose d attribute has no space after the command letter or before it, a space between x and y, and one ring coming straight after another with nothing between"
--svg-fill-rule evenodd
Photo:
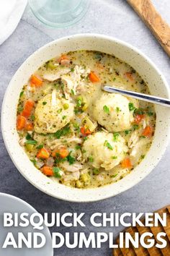
<instances>
[{"instance_id":1,"label":"speckled cream ceramic bowl surrounding the chicken and dumpling soup","mask_svg":"<svg viewBox=\"0 0 170 256\"><path fill-rule=\"evenodd\" d=\"M135 169L115 184L96 189L76 189L56 184L35 168L24 150L20 147L16 130L16 110L19 93L30 75L45 61L63 52L76 50L95 50L114 54L130 64L148 82L151 94L169 98L169 87L161 72L137 48L106 35L81 34L54 40L35 51L12 78L4 96L1 114L1 127L4 142L9 155L20 173L35 187L43 192L63 200L73 202L90 202L112 197L130 189L146 177L160 161L168 144L170 133L170 109L156 106L156 131L150 150Z\"/></svg>"}]
</instances>

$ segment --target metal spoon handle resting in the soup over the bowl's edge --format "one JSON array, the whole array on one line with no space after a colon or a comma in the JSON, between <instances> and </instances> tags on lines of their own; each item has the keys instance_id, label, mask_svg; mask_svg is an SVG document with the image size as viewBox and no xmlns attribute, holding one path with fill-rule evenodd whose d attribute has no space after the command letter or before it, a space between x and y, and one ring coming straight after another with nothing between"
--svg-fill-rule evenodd
<instances>
[{"instance_id":1,"label":"metal spoon handle resting in the soup over the bowl's edge","mask_svg":"<svg viewBox=\"0 0 170 256\"><path fill-rule=\"evenodd\" d=\"M168 98L156 97L156 96L152 96L144 93L136 93L136 92L133 92L132 90L123 90L119 88L113 88L107 85L103 85L102 90L108 93L120 93L122 95L130 96L131 98L137 98L140 101L148 101L154 104L159 104L161 106L170 107L170 100Z\"/></svg>"}]
</instances>

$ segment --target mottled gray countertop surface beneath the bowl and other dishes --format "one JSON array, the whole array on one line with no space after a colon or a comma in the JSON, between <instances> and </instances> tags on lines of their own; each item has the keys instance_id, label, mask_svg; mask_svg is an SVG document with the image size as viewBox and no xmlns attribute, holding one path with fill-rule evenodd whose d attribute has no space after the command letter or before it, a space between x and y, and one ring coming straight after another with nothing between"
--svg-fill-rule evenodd
<instances>
[{"instance_id":1,"label":"mottled gray countertop surface beneath the bowl and other dishes","mask_svg":"<svg viewBox=\"0 0 170 256\"><path fill-rule=\"evenodd\" d=\"M153 4L167 22L170 23L170 1L154 0ZM140 48L166 77L170 84L170 61L161 46L158 45L153 35L149 32L139 17L133 12L126 1L123 0L92 0L86 16L73 27L54 30L42 25L32 15L29 7L24 12L21 22L12 36L0 46L0 101L2 102L4 92L12 75L22 62L27 59L37 48L43 46L50 40L61 38L64 35L76 33L102 33L112 35ZM10 118L10 116L9 116ZM89 224L89 216L94 212L150 212L170 203L170 170L169 154L170 146L158 166L140 184L132 189L123 192L121 195L94 203L73 203L63 202L45 195L27 182L19 174L11 159L9 158L2 137L0 137L0 192L22 198L30 203L40 213L44 212L85 212L83 228L64 228L58 231L84 231L89 234L91 231L113 231L116 237L120 228L94 228ZM55 228L52 231L56 231ZM72 253L73 256L89 255L112 255L112 250L104 244L102 249L67 249L62 247L55 251L55 255L65 256Z\"/></svg>"}]
</instances>

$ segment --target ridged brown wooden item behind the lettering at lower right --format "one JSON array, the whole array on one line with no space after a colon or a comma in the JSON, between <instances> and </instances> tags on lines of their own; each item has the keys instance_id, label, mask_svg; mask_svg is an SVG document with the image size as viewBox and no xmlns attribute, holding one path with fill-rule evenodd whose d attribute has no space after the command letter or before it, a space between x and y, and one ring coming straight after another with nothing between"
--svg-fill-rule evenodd
<instances>
[{"instance_id":1,"label":"ridged brown wooden item behind the lettering at lower right","mask_svg":"<svg viewBox=\"0 0 170 256\"><path fill-rule=\"evenodd\" d=\"M163 213L166 213L167 226L161 226L161 224L159 224L159 226L156 227L142 227L137 225L125 229L125 232L129 232L131 236L133 236L135 232L138 232L140 235L145 232L151 232L154 237L156 237L156 234L159 232L166 232L167 246L164 249L158 249L157 247L145 249L142 246L140 246L138 249L134 248L133 246L131 246L129 249L117 248L113 249L113 256L170 256L170 205L157 210L156 213L159 213L160 216L162 216ZM144 221L142 222L144 223ZM118 239L117 244L119 244Z\"/></svg>"}]
</instances>

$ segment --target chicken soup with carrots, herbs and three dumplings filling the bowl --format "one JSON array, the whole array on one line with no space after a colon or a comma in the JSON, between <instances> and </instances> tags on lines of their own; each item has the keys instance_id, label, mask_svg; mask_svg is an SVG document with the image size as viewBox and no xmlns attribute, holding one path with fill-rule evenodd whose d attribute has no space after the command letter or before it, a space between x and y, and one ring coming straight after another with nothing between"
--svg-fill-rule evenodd
<instances>
[{"instance_id":1,"label":"chicken soup with carrots, herbs and three dumplings filling the bowl","mask_svg":"<svg viewBox=\"0 0 170 256\"><path fill-rule=\"evenodd\" d=\"M132 67L97 51L55 57L22 88L19 144L53 181L100 187L119 181L145 158L156 124L153 105L105 93L104 84L149 94Z\"/></svg>"}]
</instances>

